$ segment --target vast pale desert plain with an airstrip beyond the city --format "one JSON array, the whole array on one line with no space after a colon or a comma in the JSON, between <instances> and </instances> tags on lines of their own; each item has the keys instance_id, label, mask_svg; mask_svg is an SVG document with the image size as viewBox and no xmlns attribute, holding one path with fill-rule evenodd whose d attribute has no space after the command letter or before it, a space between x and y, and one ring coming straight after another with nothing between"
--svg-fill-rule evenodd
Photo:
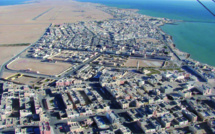
<instances>
[{"instance_id":1,"label":"vast pale desert plain with an airstrip beyond the city","mask_svg":"<svg viewBox=\"0 0 215 134\"><path fill-rule=\"evenodd\" d=\"M104 20L111 15L94 4L73 0L36 0L34 3L0 6L0 44L33 43L51 23Z\"/></svg>"}]
</instances>

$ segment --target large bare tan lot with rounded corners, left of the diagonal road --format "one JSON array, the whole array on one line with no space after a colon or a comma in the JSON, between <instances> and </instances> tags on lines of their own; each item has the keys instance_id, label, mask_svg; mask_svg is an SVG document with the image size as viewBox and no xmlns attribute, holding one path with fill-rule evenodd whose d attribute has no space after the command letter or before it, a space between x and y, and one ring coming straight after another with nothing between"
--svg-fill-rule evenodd
<instances>
[{"instance_id":1,"label":"large bare tan lot with rounded corners, left of the diagonal road","mask_svg":"<svg viewBox=\"0 0 215 134\"><path fill-rule=\"evenodd\" d=\"M31 70L39 71L40 74L57 75L71 67L69 63L48 63L40 62L37 59L19 58L8 65L12 70Z\"/></svg>"}]
</instances>

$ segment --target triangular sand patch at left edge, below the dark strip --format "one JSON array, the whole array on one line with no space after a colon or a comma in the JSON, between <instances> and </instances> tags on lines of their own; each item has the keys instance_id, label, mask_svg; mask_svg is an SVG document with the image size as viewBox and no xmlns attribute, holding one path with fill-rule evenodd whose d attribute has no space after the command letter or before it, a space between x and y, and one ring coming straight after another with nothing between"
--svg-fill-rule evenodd
<instances>
[{"instance_id":1,"label":"triangular sand patch at left edge, below the dark strip","mask_svg":"<svg viewBox=\"0 0 215 134\"><path fill-rule=\"evenodd\" d=\"M0 66L26 47L27 46L0 47Z\"/></svg>"}]
</instances>

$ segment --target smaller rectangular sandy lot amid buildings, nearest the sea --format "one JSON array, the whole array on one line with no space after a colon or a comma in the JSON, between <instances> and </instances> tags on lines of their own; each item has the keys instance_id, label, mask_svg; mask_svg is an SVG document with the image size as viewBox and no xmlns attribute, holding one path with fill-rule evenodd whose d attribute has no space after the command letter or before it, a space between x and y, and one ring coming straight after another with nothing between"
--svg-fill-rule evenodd
<instances>
[{"instance_id":1,"label":"smaller rectangular sandy lot amid buildings, nearest the sea","mask_svg":"<svg viewBox=\"0 0 215 134\"><path fill-rule=\"evenodd\" d=\"M146 60L141 58L129 58L125 66L126 67L137 67L137 62L139 61L139 67L161 67L163 61L160 60Z\"/></svg>"}]
</instances>

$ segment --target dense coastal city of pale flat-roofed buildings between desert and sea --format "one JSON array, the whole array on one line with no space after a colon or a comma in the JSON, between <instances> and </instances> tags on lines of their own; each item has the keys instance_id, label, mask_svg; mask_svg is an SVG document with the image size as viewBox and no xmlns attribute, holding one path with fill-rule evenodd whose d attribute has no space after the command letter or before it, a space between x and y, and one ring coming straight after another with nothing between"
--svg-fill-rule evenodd
<instances>
[{"instance_id":1,"label":"dense coastal city of pale flat-roofed buildings between desert and sea","mask_svg":"<svg viewBox=\"0 0 215 134\"><path fill-rule=\"evenodd\" d=\"M177 20L97 5L50 24L0 70L3 134L215 133L215 68L175 47Z\"/></svg>"}]
</instances>

